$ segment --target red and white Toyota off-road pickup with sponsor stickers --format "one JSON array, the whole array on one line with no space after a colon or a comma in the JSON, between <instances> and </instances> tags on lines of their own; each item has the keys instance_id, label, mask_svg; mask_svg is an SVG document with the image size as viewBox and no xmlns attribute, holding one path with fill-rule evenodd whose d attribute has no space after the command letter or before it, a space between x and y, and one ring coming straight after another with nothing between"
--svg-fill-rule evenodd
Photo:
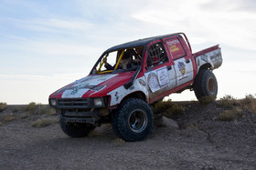
<instances>
[{"instance_id":1,"label":"red and white Toyota off-road pickup with sponsor stickers","mask_svg":"<svg viewBox=\"0 0 256 170\"><path fill-rule=\"evenodd\" d=\"M125 141L143 140L154 121L150 105L166 95L194 90L216 97L212 70L222 64L219 45L192 53L184 33L139 39L106 50L90 75L49 95L62 131L71 137L112 124Z\"/></svg>"}]
</instances>

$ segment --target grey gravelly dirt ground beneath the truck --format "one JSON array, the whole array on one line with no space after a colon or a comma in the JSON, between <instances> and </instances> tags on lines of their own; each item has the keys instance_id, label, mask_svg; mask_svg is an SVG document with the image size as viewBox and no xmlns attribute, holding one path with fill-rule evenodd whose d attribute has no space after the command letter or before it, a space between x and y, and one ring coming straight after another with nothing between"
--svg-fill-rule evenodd
<instances>
[{"instance_id":1,"label":"grey gravelly dirt ground beneath the truck","mask_svg":"<svg viewBox=\"0 0 256 170\"><path fill-rule=\"evenodd\" d=\"M216 102L178 105L183 114L164 117L144 141L132 143L117 138L111 125L84 138L70 138L59 124L33 127L38 118L58 115L19 118L22 106L8 105L0 122L7 114L16 118L0 126L0 169L256 169L255 113L219 121L226 108Z\"/></svg>"}]
</instances>

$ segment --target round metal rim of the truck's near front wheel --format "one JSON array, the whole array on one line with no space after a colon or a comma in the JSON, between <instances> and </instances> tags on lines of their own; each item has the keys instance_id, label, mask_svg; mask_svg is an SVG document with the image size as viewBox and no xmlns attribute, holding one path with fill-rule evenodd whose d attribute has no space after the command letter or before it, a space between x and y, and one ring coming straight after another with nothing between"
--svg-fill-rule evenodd
<instances>
[{"instance_id":1,"label":"round metal rim of the truck's near front wheel","mask_svg":"<svg viewBox=\"0 0 256 170\"><path fill-rule=\"evenodd\" d=\"M146 113L141 109L133 110L128 118L128 124L134 133L143 132L147 125Z\"/></svg>"}]
</instances>

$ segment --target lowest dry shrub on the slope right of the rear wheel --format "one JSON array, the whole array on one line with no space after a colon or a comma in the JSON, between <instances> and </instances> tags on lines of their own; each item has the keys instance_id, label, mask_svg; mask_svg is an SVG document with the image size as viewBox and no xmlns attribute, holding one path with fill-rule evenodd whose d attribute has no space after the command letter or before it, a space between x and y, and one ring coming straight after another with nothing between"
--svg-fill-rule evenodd
<instances>
[{"instance_id":1,"label":"lowest dry shrub on the slope right of the rear wheel","mask_svg":"<svg viewBox=\"0 0 256 170\"><path fill-rule=\"evenodd\" d=\"M219 121L232 121L242 115L240 107L235 107L232 110L225 110L219 114L217 120Z\"/></svg>"}]
</instances>

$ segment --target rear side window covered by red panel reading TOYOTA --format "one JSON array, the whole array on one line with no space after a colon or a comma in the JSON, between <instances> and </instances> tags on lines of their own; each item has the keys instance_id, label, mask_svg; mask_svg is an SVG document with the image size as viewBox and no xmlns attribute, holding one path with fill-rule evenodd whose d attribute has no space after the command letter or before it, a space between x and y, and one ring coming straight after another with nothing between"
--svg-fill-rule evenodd
<instances>
[{"instance_id":1,"label":"rear side window covered by red panel reading TOYOTA","mask_svg":"<svg viewBox=\"0 0 256 170\"><path fill-rule=\"evenodd\" d=\"M173 55L174 59L186 55L186 52L178 38L171 38L171 39L165 40L165 43L167 44L170 50L170 53Z\"/></svg>"}]
</instances>

